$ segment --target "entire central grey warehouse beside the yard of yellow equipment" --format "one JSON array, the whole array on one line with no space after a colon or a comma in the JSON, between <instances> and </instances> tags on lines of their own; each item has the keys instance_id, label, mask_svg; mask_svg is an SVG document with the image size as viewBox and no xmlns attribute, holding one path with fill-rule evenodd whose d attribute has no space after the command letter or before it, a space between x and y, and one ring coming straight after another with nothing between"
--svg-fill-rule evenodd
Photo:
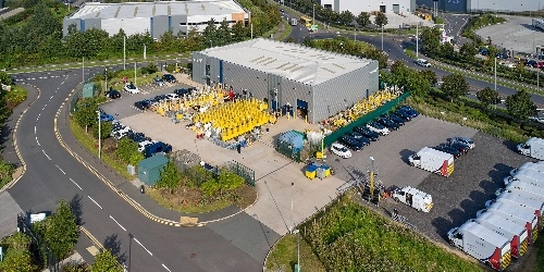
<instances>
[{"instance_id":1,"label":"entire central grey warehouse beside the yard of yellow equipment","mask_svg":"<svg viewBox=\"0 0 544 272\"><path fill-rule=\"evenodd\" d=\"M378 61L268 39L193 53L193 81L221 83L319 122L378 90Z\"/></svg>"}]
</instances>

